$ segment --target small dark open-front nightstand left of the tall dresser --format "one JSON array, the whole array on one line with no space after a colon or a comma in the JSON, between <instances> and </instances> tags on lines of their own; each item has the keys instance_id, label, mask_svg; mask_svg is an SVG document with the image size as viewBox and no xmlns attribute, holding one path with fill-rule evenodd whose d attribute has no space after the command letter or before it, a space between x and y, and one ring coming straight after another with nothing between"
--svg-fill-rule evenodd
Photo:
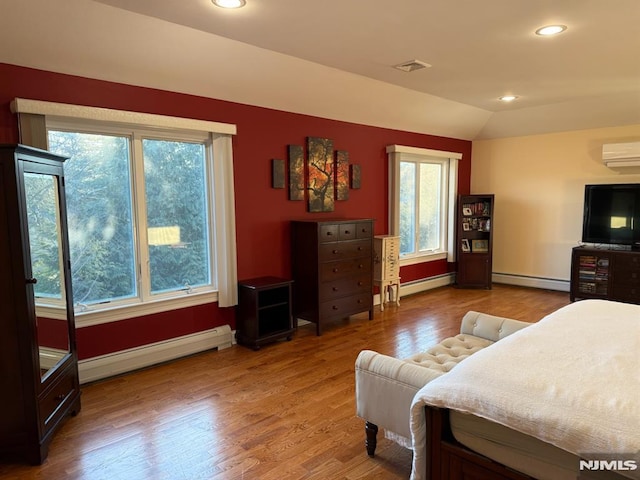
<instances>
[{"instance_id":1,"label":"small dark open-front nightstand left of the tall dresser","mask_svg":"<svg viewBox=\"0 0 640 480\"><path fill-rule=\"evenodd\" d=\"M281 338L291 340L295 328L291 315L292 280L259 277L238 282L236 340L258 350Z\"/></svg>"}]
</instances>

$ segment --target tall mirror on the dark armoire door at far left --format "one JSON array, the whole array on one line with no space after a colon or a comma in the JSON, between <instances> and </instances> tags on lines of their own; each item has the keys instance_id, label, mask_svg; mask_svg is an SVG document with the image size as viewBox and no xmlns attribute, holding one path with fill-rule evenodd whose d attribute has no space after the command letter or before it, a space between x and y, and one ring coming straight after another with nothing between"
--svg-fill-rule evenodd
<instances>
[{"instance_id":1,"label":"tall mirror on the dark armoire door at far left","mask_svg":"<svg viewBox=\"0 0 640 480\"><path fill-rule=\"evenodd\" d=\"M36 309L40 375L48 374L70 354L67 298L63 274L58 177L25 172L24 189Z\"/></svg>"}]
</instances>

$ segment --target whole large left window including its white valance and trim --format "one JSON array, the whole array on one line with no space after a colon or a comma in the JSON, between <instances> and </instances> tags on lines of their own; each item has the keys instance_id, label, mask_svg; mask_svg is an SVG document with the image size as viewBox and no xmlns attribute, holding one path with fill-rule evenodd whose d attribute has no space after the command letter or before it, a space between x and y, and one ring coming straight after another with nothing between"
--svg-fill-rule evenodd
<instances>
[{"instance_id":1,"label":"whole large left window including its white valance and trim","mask_svg":"<svg viewBox=\"0 0 640 480\"><path fill-rule=\"evenodd\" d=\"M69 157L77 326L237 303L235 125L25 99L11 108L24 143ZM55 317L52 302L38 307Z\"/></svg>"}]
</instances>

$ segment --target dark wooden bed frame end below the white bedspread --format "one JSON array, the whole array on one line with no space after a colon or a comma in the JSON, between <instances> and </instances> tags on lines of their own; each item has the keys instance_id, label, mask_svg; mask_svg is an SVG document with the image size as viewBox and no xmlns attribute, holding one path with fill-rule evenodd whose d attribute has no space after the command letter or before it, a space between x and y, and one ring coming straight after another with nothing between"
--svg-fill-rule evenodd
<instances>
[{"instance_id":1,"label":"dark wooden bed frame end below the white bedspread","mask_svg":"<svg viewBox=\"0 0 640 480\"><path fill-rule=\"evenodd\" d=\"M428 480L534 480L457 442L448 409L426 407L425 416Z\"/></svg>"}]
</instances>

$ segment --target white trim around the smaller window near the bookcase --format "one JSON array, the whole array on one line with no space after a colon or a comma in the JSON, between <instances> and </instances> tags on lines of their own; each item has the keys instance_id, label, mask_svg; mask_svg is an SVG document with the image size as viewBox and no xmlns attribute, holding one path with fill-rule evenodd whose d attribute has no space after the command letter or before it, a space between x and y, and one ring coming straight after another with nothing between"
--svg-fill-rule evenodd
<instances>
[{"instance_id":1,"label":"white trim around the smaller window near the bookcase","mask_svg":"<svg viewBox=\"0 0 640 480\"><path fill-rule=\"evenodd\" d=\"M455 262L455 212L458 193L458 162L462 158L462 154L459 152L447 152L405 145L388 145L387 155L389 158L389 229L391 235L400 234L400 202L397 200L400 191L400 162L403 160L415 161L416 158L423 161L428 159L448 160L449 183L448 185L444 185L445 191L443 192L443 200L447 203L447 251L424 252L403 256L400 258L400 265L414 265L445 258L448 262Z\"/></svg>"}]
</instances>

